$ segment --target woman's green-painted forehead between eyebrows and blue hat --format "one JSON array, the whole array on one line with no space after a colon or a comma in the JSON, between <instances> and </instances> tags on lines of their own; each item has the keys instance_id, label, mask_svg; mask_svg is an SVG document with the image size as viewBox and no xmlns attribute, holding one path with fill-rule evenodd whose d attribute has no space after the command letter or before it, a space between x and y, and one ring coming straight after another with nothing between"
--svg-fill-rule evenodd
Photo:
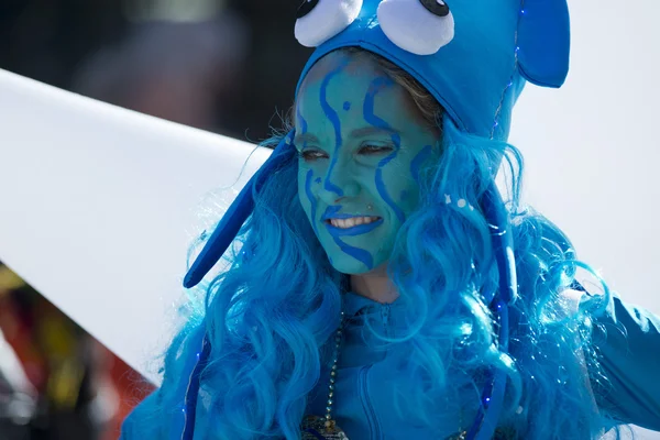
<instances>
[{"instance_id":1,"label":"woman's green-painted forehead between eyebrows and blue hat","mask_svg":"<svg viewBox=\"0 0 660 440\"><path fill-rule=\"evenodd\" d=\"M362 112L365 100L373 99L380 113L414 118L413 102L402 86L393 81L366 56L331 53L321 58L307 74L298 96L296 109L312 117L326 113L324 103L342 113ZM345 110L346 108L350 109Z\"/></svg>"}]
</instances>

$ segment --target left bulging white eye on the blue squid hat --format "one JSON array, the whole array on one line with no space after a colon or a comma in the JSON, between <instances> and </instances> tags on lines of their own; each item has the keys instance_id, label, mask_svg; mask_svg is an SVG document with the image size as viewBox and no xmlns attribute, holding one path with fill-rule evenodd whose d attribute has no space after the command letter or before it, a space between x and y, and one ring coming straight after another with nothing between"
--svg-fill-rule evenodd
<instances>
[{"instance_id":1,"label":"left bulging white eye on the blue squid hat","mask_svg":"<svg viewBox=\"0 0 660 440\"><path fill-rule=\"evenodd\" d=\"M298 8L296 38L317 47L351 25L360 15L363 0L305 0Z\"/></svg>"}]
</instances>

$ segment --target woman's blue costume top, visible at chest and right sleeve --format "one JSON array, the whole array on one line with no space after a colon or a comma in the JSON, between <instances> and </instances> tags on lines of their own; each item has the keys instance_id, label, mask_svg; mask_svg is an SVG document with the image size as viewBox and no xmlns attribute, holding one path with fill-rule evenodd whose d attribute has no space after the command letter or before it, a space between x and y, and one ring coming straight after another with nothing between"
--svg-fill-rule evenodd
<instances>
[{"instance_id":1,"label":"woman's blue costume top, visible at chest and right sleeve","mask_svg":"<svg viewBox=\"0 0 660 440\"><path fill-rule=\"evenodd\" d=\"M373 349L364 322L370 320L376 330L395 337L399 307L374 302L355 294L345 294L344 307L350 317L340 359L334 417L350 439L402 440L443 439L452 432L442 426L432 431L411 426L402 419L392 407L395 384L403 389L406 377L392 377L389 359L395 353ZM613 297L596 324L598 330L594 343L602 353L602 364L609 384L597 389L598 407L613 418L612 425L635 424L648 429L660 430L660 319L653 314ZM373 338L373 337L371 337ZM329 365L328 365L329 366ZM329 369L321 374L318 387L311 393L307 414L323 414L328 398ZM601 385L595 384L595 387ZM205 396L201 395L204 400ZM197 409L195 439L208 438L208 415L205 405ZM476 408L448 408L448 419L461 417L470 420ZM122 428L121 440L134 440L140 432L133 424L142 422L129 417ZM451 424L448 424L452 426ZM180 438L179 424L173 419L169 427L173 438Z\"/></svg>"}]
</instances>

